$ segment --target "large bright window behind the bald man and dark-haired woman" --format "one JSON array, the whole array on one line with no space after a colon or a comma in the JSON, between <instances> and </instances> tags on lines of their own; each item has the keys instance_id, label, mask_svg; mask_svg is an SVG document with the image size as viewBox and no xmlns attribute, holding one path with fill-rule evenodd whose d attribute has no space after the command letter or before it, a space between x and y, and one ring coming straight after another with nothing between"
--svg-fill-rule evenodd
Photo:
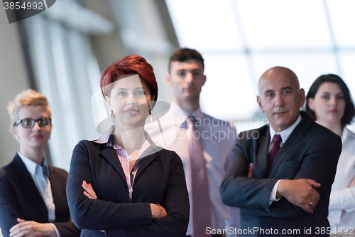
<instances>
[{"instance_id":1,"label":"large bright window behind the bald man and dark-haired woman","mask_svg":"<svg viewBox=\"0 0 355 237\"><path fill-rule=\"evenodd\" d=\"M166 0L181 47L206 64L202 110L258 127L256 84L275 65L293 70L306 93L322 74L343 78L355 95L355 16L351 0ZM266 120L264 120L266 121ZM354 130L355 126L350 127Z\"/></svg>"}]
</instances>

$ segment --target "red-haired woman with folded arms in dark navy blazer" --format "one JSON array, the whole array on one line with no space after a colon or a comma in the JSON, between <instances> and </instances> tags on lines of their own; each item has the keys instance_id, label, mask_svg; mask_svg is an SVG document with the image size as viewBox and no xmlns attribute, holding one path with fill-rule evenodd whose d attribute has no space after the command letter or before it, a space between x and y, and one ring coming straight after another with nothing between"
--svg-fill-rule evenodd
<instances>
[{"instance_id":1,"label":"red-haired woman with folded arms in dark navy blazer","mask_svg":"<svg viewBox=\"0 0 355 237\"><path fill-rule=\"evenodd\" d=\"M74 223L82 236L185 236L190 204L181 159L144 131L158 97L152 66L127 56L104 70L100 85L115 126L73 151L67 199Z\"/></svg>"}]
</instances>

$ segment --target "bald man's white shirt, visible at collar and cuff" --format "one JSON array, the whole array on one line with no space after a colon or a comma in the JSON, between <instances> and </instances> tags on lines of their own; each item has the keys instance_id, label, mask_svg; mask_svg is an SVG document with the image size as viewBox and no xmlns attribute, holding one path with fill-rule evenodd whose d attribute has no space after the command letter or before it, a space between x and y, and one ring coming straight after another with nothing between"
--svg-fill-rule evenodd
<instances>
[{"instance_id":1,"label":"bald man's white shirt, visible at collar and cuff","mask_svg":"<svg viewBox=\"0 0 355 237\"><path fill-rule=\"evenodd\" d=\"M273 130L273 127L271 127L271 125L269 125L270 127L270 144L268 147L268 152L271 152L271 149L273 149L273 137L275 135L280 135L282 142L280 142L280 148L283 146L283 144L286 142L286 140L288 139L288 137L290 137L291 133L293 132L293 130L295 129L295 127L301 122L302 117L301 115L298 116L296 122L291 125L290 127L286 128L285 130L281 131L281 132L276 132L275 130ZM276 184L273 186L273 191L271 191L271 194L269 196L269 201L268 204L271 205L273 203L273 201L278 201L280 199L276 199L276 193L278 191L278 184L280 183L281 179L279 179Z\"/></svg>"}]
</instances>

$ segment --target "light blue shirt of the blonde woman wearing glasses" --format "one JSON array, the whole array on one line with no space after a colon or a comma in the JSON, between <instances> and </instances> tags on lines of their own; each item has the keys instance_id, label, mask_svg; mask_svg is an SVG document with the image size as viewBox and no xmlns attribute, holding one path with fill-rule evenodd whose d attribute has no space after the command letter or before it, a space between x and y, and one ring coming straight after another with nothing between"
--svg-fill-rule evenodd
<instances>
[{"instance_id":1,"label":"light blue shirt of the blonde woman wearing glasses","mask_svg":"<svg viewBox=\"0 0 355 237\"><path fill-rule=\"evenodd\" d=\"M35 182L35 186L37 187L40 196L42 196L43 201L45 202L45 206L48 209L48 221L54 222L55 221L55 205L53 201L52 195L52 187L50 186L49 181L49 169L48 164L43 159L43 167L38 165L37 163L33 162L33 160L25 157L20 152L17 152L18 156L22 159L23 163L25 164L28 172L30 173L33 181ZM31 220L26 220L31 221ZM57 236L60 237L60 233L58 232L57 227L55 224L51 223L55 229L55 233Z\"/></svg>"}]
</instances>

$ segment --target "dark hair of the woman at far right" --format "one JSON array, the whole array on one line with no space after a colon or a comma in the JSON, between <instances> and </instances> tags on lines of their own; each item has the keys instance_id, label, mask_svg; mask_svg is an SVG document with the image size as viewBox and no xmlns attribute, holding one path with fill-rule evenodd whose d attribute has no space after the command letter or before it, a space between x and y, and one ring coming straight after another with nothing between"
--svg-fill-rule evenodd
<instances>
[{"instance_id":1,"label":"dark hair of the woman at far right","mask_svg":"<svg viewBox=\"0 0 355 237\"><path fill-rule=\"evenodd\" d=\"M354 102L351 99L351 94L350 94L349 88L344 83L344 80L342 80L342 78L340 78L338 75L334 75L334 74L321 75L311 85L310 90L308 91L307 96L306 96L306 112L307 112L307 114L310 115L312 120L316 120L315 112L313 112L310 109L310 106L308 105L308 99L315 98L315 94L317 94L317 91L320 88L320 85L322 85L323 83L335 83L335 84L339 85L339 88L344 93L344 98L345 98L344 115L342 117L342 120L340 120L340 122L341 122L342 128L344 128L346 125L350 125L354 119L354 116L355 116Z\"/></svg>"}]
</instances>

